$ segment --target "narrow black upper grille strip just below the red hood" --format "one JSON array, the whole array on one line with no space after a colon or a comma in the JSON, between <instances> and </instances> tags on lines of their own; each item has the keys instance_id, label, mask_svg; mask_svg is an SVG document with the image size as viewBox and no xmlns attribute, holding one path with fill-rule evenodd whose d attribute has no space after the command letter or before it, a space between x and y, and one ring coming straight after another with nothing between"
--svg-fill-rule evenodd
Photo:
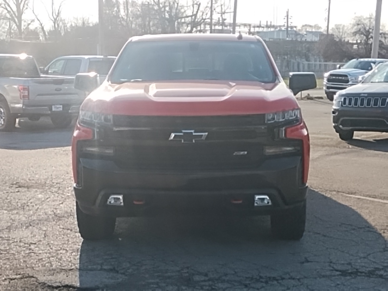
<instances>
[{"instance_id":1,"label":"narrow black upper grille strip just below the red hood","mask_svg":"<svg viewBox=\"0 0 388 291\"><path fill-rule=\"evenodd\" d=\"M265 124L265 114L244 116L126 116L114 115L113 125L130 128L211 128Z\"/></svg>"}]
</instances>

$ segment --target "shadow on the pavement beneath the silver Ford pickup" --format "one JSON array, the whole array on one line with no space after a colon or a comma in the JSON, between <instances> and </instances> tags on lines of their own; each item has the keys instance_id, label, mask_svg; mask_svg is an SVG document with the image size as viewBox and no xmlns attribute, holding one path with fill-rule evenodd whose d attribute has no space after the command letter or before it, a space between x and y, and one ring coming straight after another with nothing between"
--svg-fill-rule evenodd
<instances>
[{"instance_id":1,"label":"shadow on the pavement beneath the silver Ford pickup","mask_svg":"<svg viewBox=\"0 0 388 291\"><path fill-rule=\"evenodd\" d=\"M0 149L35 150L71 145L73 126L56 129L47 121L19 121L13 132L0 132Z\"/></svg>"}]
</instances>

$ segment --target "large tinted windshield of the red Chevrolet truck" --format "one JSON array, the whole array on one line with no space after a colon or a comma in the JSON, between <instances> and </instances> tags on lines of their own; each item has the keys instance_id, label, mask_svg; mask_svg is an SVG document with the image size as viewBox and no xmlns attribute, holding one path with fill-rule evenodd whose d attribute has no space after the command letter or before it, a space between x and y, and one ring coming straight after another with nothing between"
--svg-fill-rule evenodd
<instances>
[{"instance_id":1,"label":"large tinted windshield of the red Chevrolet truck","mask_svg":"<svg viewBox=\"0 0 388 291\"><path fill-rule=\"evenodd\" d=\"M260 42L130 42L111 72L112 83L228 80L274 83L276 75Z\"/></svg>"}]
</instances>

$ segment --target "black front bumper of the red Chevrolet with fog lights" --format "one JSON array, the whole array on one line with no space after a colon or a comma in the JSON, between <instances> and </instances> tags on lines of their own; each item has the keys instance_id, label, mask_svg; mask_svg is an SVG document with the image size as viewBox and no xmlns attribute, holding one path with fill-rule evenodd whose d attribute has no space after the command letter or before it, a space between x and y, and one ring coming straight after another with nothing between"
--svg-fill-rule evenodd
<instances>
[{"instance_id":1,"label":"black front bumper of the red Chevrolet with fog lights","mask_svg":"<svg viewBox=\"0 0 388 291\"><path fill-rule=\"evenodd\" d=\"M268 215L305 201L307 186L301 182L301 167L301 157L291 156L264 161L249 170L162 173L123 170L111 161L81 159L81 185L74 192L81 210L90 215L135 217L171 210L185 215L207 210ZM261 194L272 205L254 206L255 195ZM110 195L123 195L123 206L107 205Z\"/></svg>"}]
</instances>

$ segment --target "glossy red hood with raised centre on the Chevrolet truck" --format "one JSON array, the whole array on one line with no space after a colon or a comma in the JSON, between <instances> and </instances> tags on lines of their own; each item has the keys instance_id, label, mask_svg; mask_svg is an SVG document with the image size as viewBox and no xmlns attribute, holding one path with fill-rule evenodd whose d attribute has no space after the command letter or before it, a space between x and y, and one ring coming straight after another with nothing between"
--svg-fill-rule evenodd
<instances>
[{"instance_id":1,"label":"glossy red hood with raised centre on the Chevrolet truck","mask_svg":"<svg viewBox=\"0 0 388 291\"><path fill-rule=\"evenodd\" d=\"M209 116L260 114L299 108L283 82L104 82L81 110L105 114Z\"/></svg>"}]
</instances>

